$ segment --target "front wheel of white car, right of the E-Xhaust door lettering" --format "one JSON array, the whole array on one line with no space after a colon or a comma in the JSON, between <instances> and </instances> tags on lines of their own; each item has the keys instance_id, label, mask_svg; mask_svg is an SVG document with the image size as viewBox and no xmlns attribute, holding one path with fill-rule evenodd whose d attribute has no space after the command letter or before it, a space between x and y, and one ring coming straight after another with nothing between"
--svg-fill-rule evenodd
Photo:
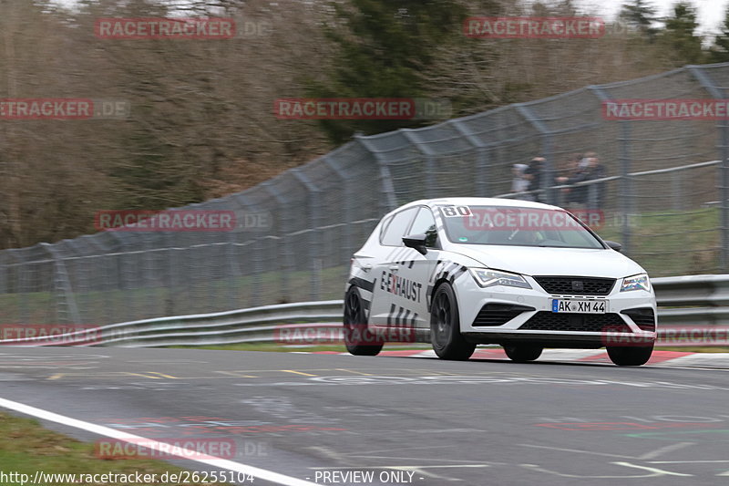
<instances>
[{"instance_id":1,"label":"front wheel of white car, right of the E-Xhaust door lettering","mask_svg":"<svg viewBox=\"0 0 729 486\"><path fill-rule=\"evenodd\" d=\"M464 361L471 357L476 345L461 335L456 294L450 284L442 284L430 305L430 342L441 359Z\"/></svg>"}]
</instances>

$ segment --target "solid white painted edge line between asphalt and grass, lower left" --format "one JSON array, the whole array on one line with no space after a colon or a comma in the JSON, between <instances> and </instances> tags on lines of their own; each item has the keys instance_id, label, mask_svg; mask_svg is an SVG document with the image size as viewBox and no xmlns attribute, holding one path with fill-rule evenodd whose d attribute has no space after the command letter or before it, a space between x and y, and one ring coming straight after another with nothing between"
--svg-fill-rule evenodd
<instances>
[{"instance_id":1,"label":"solid white painted edge line between asphalt and grass, lower left","mask_svg":"<svg viewBox=\"0 0 729 486\"><path fill-rule=\"evenodd\" d=\"M124 442L128 442L130 444L139 445L140 441L143 441L145 444L145 448L151 449L151 450L159 450L164 451L165 454L168 455L176 455L180 457L181 459L185 460L194 460L195 462L200 462L201 464L207 464L209 466L224 469L224 470L232 470L234 472L241 472L242 474L248 474L253 476L254 478L260 478L264 481L271 481L275 482L276 484L282 484L284 486L310 486L314 484L310 481L303 481L296 478L292 478L291 476L286 476L284 474L280 474L278 472L273 472L272 470L264 470L261 468L256 468L253 466L249 466L247 464L241 464L240 462L235 462L232 460L226 460L226 459L220 459L213 456L209 456L210 459L200 458L200 459L193 459L195 455L200 455L199 452L194 450L188 450L188 449L182 449L180 448L180 454L174 454L171 453L169 450L169 444L165 442L159 442L154 439L147 439L138 435L129 434L127 432L122 432L121 430L117 429L111 429L109 427L104 427L103 425L97 425L92 424L90 422L85 422L83 420L78 419L71 419L70 417L66 417L64 415L59 415L54 412L50 412L48 410L44 410L42 408L35 408L31 407L29 405L25 405L23 403L18 403L16 401L8 400L5 398L0 398L0 407L7 408L9 410L15 410L16 412L20 412L25 415L30 415L32 417L36 417L37 419L43 419L43 420L49 420L51 422L56 422L59 424L67 425L68 427L73 427L75 429L82 429L86 430L87 432L92 432L98 435L102 435L105 437L110 437L112 439L118 439L122 440Z\"/></svg>"}]
</instances>

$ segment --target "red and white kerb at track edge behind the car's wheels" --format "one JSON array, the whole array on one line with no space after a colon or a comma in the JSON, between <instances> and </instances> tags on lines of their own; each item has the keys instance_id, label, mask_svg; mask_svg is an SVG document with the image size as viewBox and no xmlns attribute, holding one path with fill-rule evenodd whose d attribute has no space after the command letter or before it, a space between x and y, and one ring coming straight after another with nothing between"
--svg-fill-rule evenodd
<instances>
[{"instance_id":1,"label":"red and white kerb at track edge behind the car's wheels","mask_svg":"<svg viewBox=\"0 0 729 486\"><path fill-rule=\"evenodd\" d=\"M317 355L344 355L336 351L317 351ZM436 357L432 349L394 349L383 350L383 357ZM504 350L499 348L477 349L471 359L493 359L508 361ZM604 349L545 349L539 361L612 363ZM683 353L681 351L653 351L647 366L662 367L707 367L729 369L729 353Z\"/></svg>"}]
</instances>

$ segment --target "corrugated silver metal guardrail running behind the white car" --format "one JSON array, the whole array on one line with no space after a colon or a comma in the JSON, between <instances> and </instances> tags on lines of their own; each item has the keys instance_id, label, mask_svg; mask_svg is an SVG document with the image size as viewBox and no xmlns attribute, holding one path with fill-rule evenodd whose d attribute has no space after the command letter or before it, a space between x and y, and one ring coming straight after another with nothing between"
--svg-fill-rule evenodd
<instances>
[{"instance_id":1,"label":"corrugated silver metal guardrail running behind the white car","mask_svg":"<svg viewBox=\"0 0 729 486\"><path fill-rule=\"evenodd\" d=\"M660 344L729 346L729 274L655 278L652 284L659 305ZM265 305L90 327L63 335L5 339L0 344L49 346L63 338L63 344L74 346L210 346L280 342L287 336L311 336L312 330L334 341L341 337L336 330L342 326L342 306L341 300Z\"/></svg>"}]
</instances>

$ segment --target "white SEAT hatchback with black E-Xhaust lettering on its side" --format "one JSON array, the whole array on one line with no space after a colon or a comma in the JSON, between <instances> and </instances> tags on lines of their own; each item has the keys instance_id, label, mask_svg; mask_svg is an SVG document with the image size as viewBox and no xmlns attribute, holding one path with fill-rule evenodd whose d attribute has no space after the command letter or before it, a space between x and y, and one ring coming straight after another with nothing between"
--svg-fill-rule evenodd
<instances>
[{"instance_id":1,"label":"white SEAT hatchback with black E-Xhaust lettering on its side","mask_svg":"<svg viewBox=\"0 0 729 486\"><path fill-rule=\"evenodd\" d=\"M352 258L344 339L354 355L431 342L467 359L477 344L537 359L544 347L607 347L640 366L656 337L639 264L563 209L488 198L416 201L385 215Z\"/></svg>"}]
</instances>

